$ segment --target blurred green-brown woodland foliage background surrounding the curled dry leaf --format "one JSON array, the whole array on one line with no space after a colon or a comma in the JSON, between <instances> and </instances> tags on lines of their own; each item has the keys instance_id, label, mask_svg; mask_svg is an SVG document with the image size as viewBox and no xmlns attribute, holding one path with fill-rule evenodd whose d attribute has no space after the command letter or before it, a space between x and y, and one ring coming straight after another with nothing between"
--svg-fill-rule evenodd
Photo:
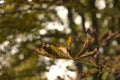
<instances>
[{"instance_id":1,"label":"blurred green-brown woodland foliage background surrounding the curled dry leaf","mask_svg":"<svg viewBox=\"0 0 120 80\"><path fill-rule=\"evenodd\" d=\"M99 53L97 68L84 64L94 64L89 57L74 61L77 76L68 80L120 79L120 0L0 0L0 80L50 80L45 72L57 59L34 49L68 36L72 56L87 39Z\"/></svg>"}]
</instances>

